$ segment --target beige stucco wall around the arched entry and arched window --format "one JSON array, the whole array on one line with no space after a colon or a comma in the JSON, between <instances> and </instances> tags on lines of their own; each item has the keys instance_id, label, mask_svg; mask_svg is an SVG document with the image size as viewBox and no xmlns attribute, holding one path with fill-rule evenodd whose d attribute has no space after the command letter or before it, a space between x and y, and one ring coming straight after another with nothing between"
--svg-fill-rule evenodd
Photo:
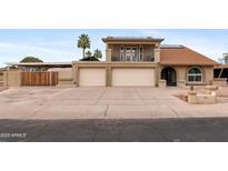
<instances>
[{"instance_id":1,"label":"beige stucco wall around the arched entry and arched window","mask_svg":"<svg viewBox=\"0 0 228 171\"><path fill-rule=\"evenodd\" d=\"M186 80L186 83L190 84L190 82L187 82L187 72L191 66L171 66L171 67L176 70L177 82ZM166 67L161 66L159 68L159 79L161 79L161 71L163 68ZM199 68L202 71L202 83L200 84L211 84L214 80L214 67L206 66L206 67L199 67Z\"/></svg>"}]
</instances>

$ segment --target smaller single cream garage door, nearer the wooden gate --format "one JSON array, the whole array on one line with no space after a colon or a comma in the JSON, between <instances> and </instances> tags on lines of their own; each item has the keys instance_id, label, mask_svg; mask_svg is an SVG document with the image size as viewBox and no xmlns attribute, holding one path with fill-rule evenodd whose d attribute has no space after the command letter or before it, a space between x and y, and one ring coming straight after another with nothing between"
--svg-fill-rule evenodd
<instances>
[{"instance_id":1,"label":"smaller single cream garage door, nearer the wooden gate","mask_svg":"<svg viewBox=\"0 0 228 171\"><path fill-rule=\"evenodd\" d=\"M106 70L98 69L98 68L79 69L79 86L80 87L106 86Z\"/></svg>"}]
</instances>

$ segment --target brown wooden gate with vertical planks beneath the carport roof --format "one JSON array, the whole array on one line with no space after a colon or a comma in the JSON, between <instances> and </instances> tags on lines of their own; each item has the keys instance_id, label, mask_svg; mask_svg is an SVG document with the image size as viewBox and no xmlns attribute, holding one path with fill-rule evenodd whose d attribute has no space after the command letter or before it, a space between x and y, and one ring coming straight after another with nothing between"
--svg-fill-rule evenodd
<instances>
[{"instance_id":1,"label":"brown wooden gate with vertical planks beneath the carport roof","mask_svg":"<svg viewBox=\"0 0 228 171\"><path fill-rule=\"evenodd\" d=\"M57 86L58 72L37 72L23 71L21 72L22 86Z\"/></svg>"}]
</instances>

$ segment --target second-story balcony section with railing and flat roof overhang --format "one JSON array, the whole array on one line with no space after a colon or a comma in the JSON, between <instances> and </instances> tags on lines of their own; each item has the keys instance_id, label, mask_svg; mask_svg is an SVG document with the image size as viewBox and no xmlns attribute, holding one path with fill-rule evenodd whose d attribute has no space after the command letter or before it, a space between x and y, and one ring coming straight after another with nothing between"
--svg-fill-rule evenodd
<instances>
[{"instance_id":1,"label":"second-story balcony section with railing and flat roof overhang","mask_svg":"<svg viewBox=\"0 0 228 171\"><path fill-rule=\"evenodd\" d=\"M121 62L159 62L162 40L152 37L102 38L107 48L107 61Z\"/></svg>"}]
</instances>

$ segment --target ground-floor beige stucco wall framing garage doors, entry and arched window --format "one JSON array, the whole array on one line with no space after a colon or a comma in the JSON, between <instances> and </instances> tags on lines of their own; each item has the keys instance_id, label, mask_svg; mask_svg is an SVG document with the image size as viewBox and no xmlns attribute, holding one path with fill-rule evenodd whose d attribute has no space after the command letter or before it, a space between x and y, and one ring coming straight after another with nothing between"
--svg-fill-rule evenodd
<instances>
[{"instance_id":1,"label":"ground-floor beige stucco wall framing garage doors, entry and arched window","mask_svg":"<svg viewBox=\"0 0 228 171\"><path fill-rule=\"evenodd\" d=\"M118 68L119 69L135 69L135 68L153 69L155 84L158 86L158 82L161 79L161 70L165 67L159 66L153 62L75 62L73 72L76 73L73 74L73 77L76 78L73 78L73 80L78 80L77 77L79 77L79 74L77 73L77 71L78 70L80 71L80 68L100 68L105 70L103 72L106 74L105 77L106 86L113 84L112 83L113 69L118 69ZM189 66L174 66L172 68L176 70L176 73L177 73L177 86L184 87L187 80L187 71L190 67ZM211 84L214 80L214 68L212 67L200 67L200 69L202 70L202 83L201 84ZM91 71L90 74L93 74L93 72ZM80 80L78 81L78 83L80 84Z\"/></svg>"}]
</instances>

